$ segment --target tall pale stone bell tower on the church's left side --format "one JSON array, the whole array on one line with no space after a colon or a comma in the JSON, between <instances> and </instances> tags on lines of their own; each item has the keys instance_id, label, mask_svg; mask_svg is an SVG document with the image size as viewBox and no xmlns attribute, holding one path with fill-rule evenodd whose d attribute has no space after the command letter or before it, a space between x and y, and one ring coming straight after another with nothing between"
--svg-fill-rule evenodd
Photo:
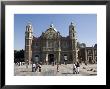
<instances>
[{"instance_id":1,"label":"tall pale stone bell tower on the church's left side","mask_svg":"<svg viewBox=\"0 0 110 89\"><path fill-rule=\"evenodd\" d=\"M32 39L32 25L28 23L25 31L25 62L29 64L32 59Z\"/></svg>"}]
</instances>

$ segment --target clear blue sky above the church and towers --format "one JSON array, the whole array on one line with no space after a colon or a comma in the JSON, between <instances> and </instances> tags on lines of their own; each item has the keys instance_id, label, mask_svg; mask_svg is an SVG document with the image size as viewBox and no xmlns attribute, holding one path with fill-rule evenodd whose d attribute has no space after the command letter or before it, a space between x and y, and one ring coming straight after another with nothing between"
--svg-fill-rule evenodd
<instances>
[{"instance_id":1,"label":"clear blue sky above the church and towers","mask_svg":"<svg viewBox=\"0 0 110 89\"><path fill-rule=\"evenodd\" d=\"M69 25L76 25L77 40L91 47L97 43L96 14L15 14L14 15L14 49L25 48L26 25L31 23L33 35L39 37L50 24L64 37L69 35Z\"/></svg>"}]
</instances>

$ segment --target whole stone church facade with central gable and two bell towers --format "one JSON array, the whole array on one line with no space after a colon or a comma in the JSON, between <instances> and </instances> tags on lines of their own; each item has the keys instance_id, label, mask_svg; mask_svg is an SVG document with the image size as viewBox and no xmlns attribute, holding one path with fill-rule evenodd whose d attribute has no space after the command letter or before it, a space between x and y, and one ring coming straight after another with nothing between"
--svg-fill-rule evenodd
<instances>
[{"instance_id":1,"label":"whole stone church facade with central gable and two bell towers","mask_svg":"<svg viewBox=\"0 0 110 89\"><path fill-rule=\"evenodd\" d=\"M78 61L78 48L76 39L76 29L74 23L68 26L68 36L61 36L60 32L53 24L42 32L41 36L33 36L33 27L31 24L26 26L25 31L25 61L41 61L51 64L68 63Z\"/></svg>"}]
</instances>

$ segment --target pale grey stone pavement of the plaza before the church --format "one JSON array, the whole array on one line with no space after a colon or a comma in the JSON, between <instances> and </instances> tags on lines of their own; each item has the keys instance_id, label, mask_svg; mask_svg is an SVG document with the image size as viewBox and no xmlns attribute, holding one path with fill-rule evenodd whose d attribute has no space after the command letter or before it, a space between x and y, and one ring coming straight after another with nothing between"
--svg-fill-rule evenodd
<instances>
[{"instance_id":1,"label":"pale grey stone pavement of the plaza before the church","mask_svg":"<svg viewBox=\"0 0 110 89\"><path fill-rule=\"evenodd\" d=\"M26 68L26 65L14 66L15 76L93 76L97 75L97 64L80 65L80 73L73 74L73 64L61 64L59 66L59 72L57 72L57 66L54 65L42 65L41 72L32 72L32 65Z\"/></svg>"}]
</instances>

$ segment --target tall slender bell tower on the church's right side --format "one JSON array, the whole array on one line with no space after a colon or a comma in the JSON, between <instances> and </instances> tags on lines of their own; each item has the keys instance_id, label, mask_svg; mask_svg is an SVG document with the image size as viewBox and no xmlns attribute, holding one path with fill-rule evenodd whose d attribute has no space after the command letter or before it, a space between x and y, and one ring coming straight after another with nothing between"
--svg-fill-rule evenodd
<instances>
[{"instance_id":1,"label":"tall slender bell tower on the church's right side","mask_svg":"<svg viewBox=\"0 0 110 89\"><path fill-rule=\"evenodd\" d=\"M76 39L76 31L75 25L73 22L69 25L69 37L70 37L70 45L71 45L71 54L73 62L77 61L77 39Z\"/></svg>"}]
</instances>

